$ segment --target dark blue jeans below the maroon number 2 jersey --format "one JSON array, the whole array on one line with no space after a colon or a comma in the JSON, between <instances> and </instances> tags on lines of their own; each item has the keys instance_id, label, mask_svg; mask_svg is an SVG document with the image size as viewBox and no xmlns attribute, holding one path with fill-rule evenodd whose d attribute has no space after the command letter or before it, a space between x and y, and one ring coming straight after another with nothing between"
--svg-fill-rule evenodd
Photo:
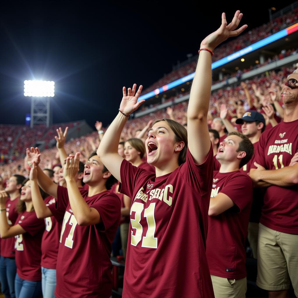
<instances>
[{"instance_id":1,"label":"dark blue jeans below the maroon number 2 jersey","mask_svg":"<svg viewBox=\"0 0 298 298\"><path fill-rule=\"evenodd\" d=\"M16 298L40 298L41 280L23 280L16 274L15 276L15 297Z\"/></svg>"}]
</instances>

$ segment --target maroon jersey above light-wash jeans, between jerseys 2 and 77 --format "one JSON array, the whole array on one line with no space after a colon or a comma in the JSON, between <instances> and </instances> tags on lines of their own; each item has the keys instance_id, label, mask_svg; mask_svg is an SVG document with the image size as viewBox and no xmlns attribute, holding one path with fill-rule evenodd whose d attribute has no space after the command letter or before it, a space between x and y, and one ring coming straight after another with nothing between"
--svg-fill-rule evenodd
<instances>
[{"instance_id":1,"label":"maroon jersey above light-wash jeans, between jerseys 2 and 77","mask_svg":"<svg viewBox=\"0 0 298 298\"><path fill-rule=\"evenodd\" d=\"M45 198L46 206L56 203L52 196ZM57 221L55 216L44 219L46 229L41 241L41 266L48 269L56 269L57 255L59 248L59 239L62 226L62 220Z\"/></svg>"}]
</instances>

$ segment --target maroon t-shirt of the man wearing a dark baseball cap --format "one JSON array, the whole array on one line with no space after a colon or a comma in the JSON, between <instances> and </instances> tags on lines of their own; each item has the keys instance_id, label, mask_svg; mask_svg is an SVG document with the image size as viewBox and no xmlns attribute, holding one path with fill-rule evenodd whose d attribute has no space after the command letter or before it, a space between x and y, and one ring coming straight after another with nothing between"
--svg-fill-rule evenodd
<instances>
[{"instance_id":1,"label":"maroon t-shirt of the man wearing a dark baseball cap","mask_svg":"<svg viewBox=\"0 0 298 298\"><path fill-rule=\"evenodd\" d=\"M250 168L254 165L254 156L257 151L257 146L259 142L254 143L254 155L250 159L250 161L245 164L242 168L240 168L240 172L243 172L245 174L249 173ZM263 199L264 199L264 194L265 194L266 189L265 188L260 188L260 187L254 187L253 190L253 199L252 199L252 209L250 212L250 217L249 221L252 223L259 223L260 222L260 217L261 217L261 210L263 206Z\"/></svg>"}]
</instances>

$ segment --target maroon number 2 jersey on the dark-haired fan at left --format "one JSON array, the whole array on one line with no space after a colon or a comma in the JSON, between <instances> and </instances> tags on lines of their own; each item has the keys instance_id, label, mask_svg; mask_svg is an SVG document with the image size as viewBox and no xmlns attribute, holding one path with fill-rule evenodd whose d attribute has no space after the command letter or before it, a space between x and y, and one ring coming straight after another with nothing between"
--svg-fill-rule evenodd
<instances>
[{"instance_id":1,"label":"maroon number 2 jersey on the dark-haired fan at left","mask_svg":"<svg viewBox=\"0 0 298 298\"><path fill-rule=\"evenodd\" d=\"M21 279L41 280L41 238L44 220L38 219L34 211L24 211L18 215L19 224L26 233L15 236L15 264Z\"/></svg>"}]
</instances>

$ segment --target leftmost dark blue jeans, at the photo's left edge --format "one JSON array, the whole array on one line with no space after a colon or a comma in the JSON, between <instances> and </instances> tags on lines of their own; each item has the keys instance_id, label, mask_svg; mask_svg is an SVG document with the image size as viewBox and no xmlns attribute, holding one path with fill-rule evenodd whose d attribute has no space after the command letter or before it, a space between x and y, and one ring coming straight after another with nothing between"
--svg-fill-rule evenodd
<instances>
[{"instance_id":1,"label":"leftmost dark blue jeans, at the photo's left edge","mask_svg":"<svg viewBox=\"0 0 298 298\"><path fill-rule=\"evenodd\" d=\"M0 257L0 283L5 298L15 298L15 258Z\"/></svg>"}]
</instances>

